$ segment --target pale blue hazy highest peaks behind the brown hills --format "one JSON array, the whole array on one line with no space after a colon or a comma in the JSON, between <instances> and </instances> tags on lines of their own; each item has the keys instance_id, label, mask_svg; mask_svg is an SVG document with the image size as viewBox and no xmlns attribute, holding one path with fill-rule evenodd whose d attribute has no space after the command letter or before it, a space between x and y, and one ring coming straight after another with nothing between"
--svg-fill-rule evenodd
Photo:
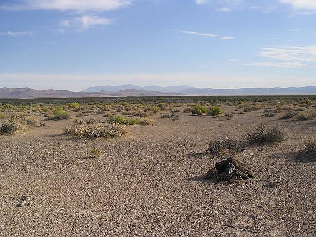
<instances>
[{"instance_id":1,"label":"pale blue hazy highest peaks behind the brown hills","mask_svg":"<svg viewBox=\"0 0 316 237\"><path fill-rule=\"evenodd\" d=\"M136 89L136 90L150 90L155 92L181 92L185 89L194 89L195 87L189 86L189 85L179 85L179 86L167 86L167 87L161 87L156 85L150 85L150 86L136 86L136 85L107 85L107 86L95 86L90 87L84 92L119 92L120 90L126 90L126 89Z\"/></svg>"}]
</instances>

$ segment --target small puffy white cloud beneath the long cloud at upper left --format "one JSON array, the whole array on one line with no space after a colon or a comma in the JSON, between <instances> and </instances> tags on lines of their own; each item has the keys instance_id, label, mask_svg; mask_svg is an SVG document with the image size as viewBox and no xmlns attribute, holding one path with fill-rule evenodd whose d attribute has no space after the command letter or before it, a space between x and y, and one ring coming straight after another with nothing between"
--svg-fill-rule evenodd
<instances>
[{"instance_id":1,"label":"small puffy white cloud beneath the long cloud at upper left","mask_svg":"<svg viewBox=\"0 0 316 237\"><path fill-rule=\"evenodd\" d=\"M61 26L63 27L74 27L79 30L86 30L90 26L94 25L110 25L112 21L107 18L102 18L93 15L84 15L81 17L75 17L72 19L63 20Z\"/></svg>"}]
</instances>

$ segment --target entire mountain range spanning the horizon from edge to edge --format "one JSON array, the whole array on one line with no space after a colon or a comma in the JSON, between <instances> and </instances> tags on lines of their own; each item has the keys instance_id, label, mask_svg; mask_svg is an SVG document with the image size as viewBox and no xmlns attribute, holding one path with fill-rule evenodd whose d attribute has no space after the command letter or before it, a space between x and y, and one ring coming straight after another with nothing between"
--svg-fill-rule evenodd
<instances>
[{"instance_id":1,"label":"entire mountain range spanning the horizon from edge to edge","mask_svg":"<svg viewBox=\"0 0 316 237\"><path fill-rule=\"evenodd\" d=\"M180 86L95 86L82 92L70 90L37 90L31 88L0 88L0 98L58 98L111 96L176 96L176 95L316 95L316 86L288 88L212 89Z\"/></svg>"}]
</instances>

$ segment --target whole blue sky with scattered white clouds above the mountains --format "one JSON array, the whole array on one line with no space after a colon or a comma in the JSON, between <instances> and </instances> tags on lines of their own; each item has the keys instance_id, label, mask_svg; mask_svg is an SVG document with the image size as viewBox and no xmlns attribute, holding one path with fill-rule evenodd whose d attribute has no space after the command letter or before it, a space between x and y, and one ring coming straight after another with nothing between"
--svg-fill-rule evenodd
<instances>
[{"instance_id":1,"label":"whole blue sky with scattered white clouds above the mountains","mask_svg":"<svg viewBox=\"0 0 316 237\"><path fill-rule=\"evenodd\" d=\"M0 87L316 85L316 0L0 0Z\"/></svg>"}]
</instances>

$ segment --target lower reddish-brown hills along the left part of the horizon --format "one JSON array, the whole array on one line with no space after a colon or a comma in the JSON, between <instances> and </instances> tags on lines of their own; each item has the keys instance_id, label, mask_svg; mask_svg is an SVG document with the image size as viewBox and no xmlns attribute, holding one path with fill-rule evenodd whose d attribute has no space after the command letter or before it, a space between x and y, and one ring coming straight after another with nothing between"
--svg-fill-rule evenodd
<instances>
[{"instance_id":1,"label":"lower reddish-brown hills along the left part of the horizon","mask_svg":"<svg viewBox=\"0 0 316 237\"><path fill-rule=\"evenodd\" d=\"M118 92L71 92L69 90L36 90L30 88L0 88L0 98L59 98L106 96L174 96L179 93L163 93L149 90L126 89Z\"/></svg>"}]
</instances>

